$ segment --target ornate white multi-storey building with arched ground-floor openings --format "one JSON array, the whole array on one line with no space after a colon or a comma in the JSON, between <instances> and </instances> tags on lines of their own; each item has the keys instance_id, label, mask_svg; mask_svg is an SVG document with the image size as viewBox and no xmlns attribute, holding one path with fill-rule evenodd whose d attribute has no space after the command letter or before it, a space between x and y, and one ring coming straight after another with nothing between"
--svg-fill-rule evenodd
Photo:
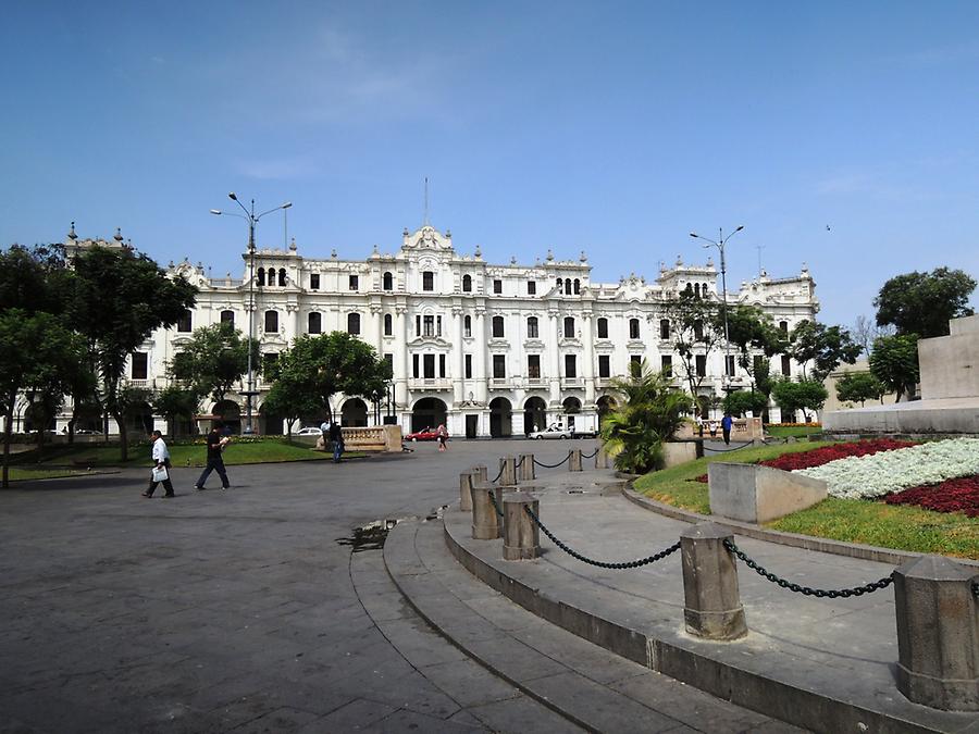
<instances>
[{"instance_id":1,"label":"ornate white multi-storey building with arched ground-floor openings","mask_svg":"<svg viewBox=\"0 0 979 734\"><path fill-rule=\"evenodd\" d=\"M91 244L66 242L70 248ZM678 258L673 268L660 266L652 283L634 274L618 283L593 283L584 252L578 261L555 260L548 251L533 264L516 259L490 264L479 247L463 256L449 232L431 226L405 229L397 252L383 254L375 247L367 260L339 260L335 252L327 259L303 258L295 241L287 251L259 249L253 284L248 281L252 263L247 252L243 257L245 279L208 277L203 264L171 263L171 272L200 289L197 307L176 327L156 332L133 356L132 383L163 387L166 364L197 327L232 321L247 332L253 299L252 337L264 359L274 359L299 335L331 331L357 334L388 359L393 402L380 412L391 410L406 433L439 423L455 436L469 437L522 435L555 422L593 430L609 406L611 378L627 374L630 361L645 359L657 369L676 364L664 301L684 289L707 298L719 298L720 291L709 260L684 265ZM818 310L805 268L779 279L763 272L729 293L728 301L760 306L785 329L814 319ZM795 374L796 369L788 358L772 360L776 373ZM715 350L704 370L702 393L722 395L723 354ZM748 385L746 375L729 381ZM256 388L258 432L282 433L282 419L262 410L269 385L258 377ZM202 406L203 412L236 422L245 401L230 397L224 405ZM345 425L375 422L373 407L361 398L336 396L334 408ZM308 416L308 422L319 418Z\"/></svg>"}]
</instances>

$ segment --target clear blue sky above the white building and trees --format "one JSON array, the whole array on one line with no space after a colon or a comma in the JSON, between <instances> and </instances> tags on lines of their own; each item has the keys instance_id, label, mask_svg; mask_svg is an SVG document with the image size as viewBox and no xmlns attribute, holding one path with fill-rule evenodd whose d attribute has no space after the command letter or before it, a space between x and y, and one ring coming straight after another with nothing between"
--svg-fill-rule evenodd
<instances>
[{"instance_id":1,"label":"clear blue sky above the white building and trees","mask_svg":"<svg viewBox=\"0 0 979 734\"><path fill-rule=\"evenodd\" d=\"M0 61L3 246L74 220L238 275L246 225L208 213L234 190L359 259L422 223L427 176L490 262L653 277L743 224L732 289L806 262L847 325L895 274L979 277L975 2L41 0L5 5Z\"/></svg>"}]
</instances>

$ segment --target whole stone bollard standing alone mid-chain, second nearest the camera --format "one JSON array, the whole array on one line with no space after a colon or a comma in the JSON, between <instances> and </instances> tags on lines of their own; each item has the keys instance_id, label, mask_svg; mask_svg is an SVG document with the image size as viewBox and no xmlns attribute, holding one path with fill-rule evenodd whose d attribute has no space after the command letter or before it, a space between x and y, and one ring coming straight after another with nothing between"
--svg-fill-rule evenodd
<instances>
[{"instance_id":1,"label":"whole stone bollard standing alone mid-chain, second nearest the camera","mask_svg":"<svg viewBox=\"0 0 979 734\"><path fill-rule=\"evenodd\" d=\"M702 522L680 534L683 562L683 621L686 631L707 639L738 639L747 634L738 589L734 555L724 548L731 531Z\"/></svg>"}]
</instances>

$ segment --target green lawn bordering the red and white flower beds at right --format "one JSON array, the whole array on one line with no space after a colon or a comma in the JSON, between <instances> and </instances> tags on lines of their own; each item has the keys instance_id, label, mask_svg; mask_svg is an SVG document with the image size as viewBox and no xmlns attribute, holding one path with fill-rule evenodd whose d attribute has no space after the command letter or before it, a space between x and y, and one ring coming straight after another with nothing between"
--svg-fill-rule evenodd
<instances>
[{"instance_id":1,"label":"green lawn bordering the red and white flower beds at right","mask_svg":"<svg viewBox=\"0 0 979 734\"><path fill-rule=\"evenodd\" d=\"M693 480L705 473L711 461L764 461L783 453L807 451L828 443L745 448L697 459L646 474L636 480L635 489L667 505L710 514L707 485ZM765 526L845 543L979 560L979 518L968 518L962 512L932 512L914 506L829 497L815 507L766 523Z\"/></svg>"}]
</instances>

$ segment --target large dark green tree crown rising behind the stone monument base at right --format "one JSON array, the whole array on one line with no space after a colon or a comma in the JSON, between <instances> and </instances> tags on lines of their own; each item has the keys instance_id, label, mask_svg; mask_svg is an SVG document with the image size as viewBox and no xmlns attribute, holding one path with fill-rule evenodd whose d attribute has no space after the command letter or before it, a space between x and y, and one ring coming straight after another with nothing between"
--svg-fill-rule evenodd
<instances>
[{"instance_id":1,"label":"large dark green tree crown rising behind the stone monument base at right","mask_svg":"<svg viewBox=\"0 0 979 734\"><path fill-rule=\"evenodd\" d=\"M968 300L975 289L976 281L961 270L935 268L897 275L873 299L877 323L892 324L899 335L946 336L951 319L972 315Z\"/></svg>"}]
</instances>

